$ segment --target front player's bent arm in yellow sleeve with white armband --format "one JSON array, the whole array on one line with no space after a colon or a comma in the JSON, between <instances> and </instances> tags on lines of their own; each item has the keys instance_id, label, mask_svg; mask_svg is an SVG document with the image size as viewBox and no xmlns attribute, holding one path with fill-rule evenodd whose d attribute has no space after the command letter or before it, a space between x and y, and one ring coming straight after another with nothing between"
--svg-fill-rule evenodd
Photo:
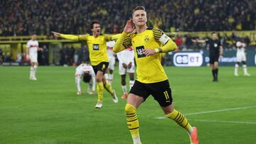
<instances>
[{"instance_id":1,"label":"front player's bent arm in yellow sleeve with white armband","mask_svg":"<svg viewBox=\"0 0 256 144\"><path fill-rule=\"evenodd\" d=\"M154 39L163 45L161 48L156 48L156 52L169 52L178 48L176 43L159 28L153 28L152 31Z\"/></svg>"}]
</instances>

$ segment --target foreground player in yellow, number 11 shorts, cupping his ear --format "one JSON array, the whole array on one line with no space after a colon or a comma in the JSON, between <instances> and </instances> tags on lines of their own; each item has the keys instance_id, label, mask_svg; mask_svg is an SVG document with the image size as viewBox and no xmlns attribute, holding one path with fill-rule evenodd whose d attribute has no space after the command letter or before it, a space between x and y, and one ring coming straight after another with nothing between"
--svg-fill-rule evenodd
<instances>
[{"instance_id":1,"label":"foreground player in yellow, number 11 shorts, cupping his ear","mask_svg":"<svg viewBox=\"0 0 256 144\"><path fill-rule=\"evenodd\" d=\"M133 143L141 143L137 109L151 94L159 102L166 117L185 128L190 135L191 143L197 144L197 128L192 127L186 117L174 109L168 77L161 66L161 52L176 50L177 45L160 29L148 28L146 21L144 7L137 6L132 11L132 19L127 21L124 31L117 39L113 49L114 52L120 52L131 46L134 48L137 80L129 92L125 106L127 126L132 135ZM163 46L160 46L161 44Z\"/></svg>"}]
</instances>

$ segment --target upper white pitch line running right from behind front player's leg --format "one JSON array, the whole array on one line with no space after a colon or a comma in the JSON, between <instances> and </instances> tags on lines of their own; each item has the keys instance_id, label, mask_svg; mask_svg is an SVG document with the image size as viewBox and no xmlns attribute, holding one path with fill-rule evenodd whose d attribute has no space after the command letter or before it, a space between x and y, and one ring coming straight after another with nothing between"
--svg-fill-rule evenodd
<instances>
[{"instance_id":1,"label":"upper white pitch line running right from behind front player's leg","mask_svg":"<svg viewBox=\"0 0 256 144\"><path fill-rule=\"evenodd\" d=\"M223 111L235 111L235 110L240 110L240 109L251 109L255 108L256 106L245 106L245 107L238 107L238 108L230 108L230 109L219 109L215 111L201 111L201 112L196 112L196 113L186 113L184 114L185 116L191 116L191 115L198 115L198 114L204 114L204 113L218 113L218 112L223 112ZM165 116L161 117L156 117L156 119L166 119Z\"/></svg>"}]
</instances>

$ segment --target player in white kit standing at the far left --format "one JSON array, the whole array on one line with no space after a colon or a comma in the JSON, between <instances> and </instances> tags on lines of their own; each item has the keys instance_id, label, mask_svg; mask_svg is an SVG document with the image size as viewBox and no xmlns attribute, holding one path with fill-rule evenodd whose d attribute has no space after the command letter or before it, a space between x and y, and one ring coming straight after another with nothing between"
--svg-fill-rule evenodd
<instances>
[{"instance_id":1,"label":"player in white kit standing at the far left","mask_svg":"<svg viewBox=\"0 0 256 144\"><path fill-rule=\"evenodd\" d=\"M31 40L28 40L26 44L26 59L31 61L31 70L29 79L36 80L36 70L38 68L38 50L43 50L39 48L38 40L36 40L36 34L31 35Z\"/></svg>"}]
</instances>

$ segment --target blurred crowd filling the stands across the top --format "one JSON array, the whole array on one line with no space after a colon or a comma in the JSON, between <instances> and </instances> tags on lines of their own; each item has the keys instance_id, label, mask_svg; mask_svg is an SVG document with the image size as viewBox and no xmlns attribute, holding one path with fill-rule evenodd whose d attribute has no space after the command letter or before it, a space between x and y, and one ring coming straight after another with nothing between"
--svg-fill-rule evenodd
<instances>
[{"instance_id":1,"label":"blurred crowd filling the stands across the top","mask_svg":"<svg viewBox=\"0 0 256 144\"><path fill-rule=\"evenodd\" d=\"M148 26L163 31L255 30L255 1L250 0L0 0L0 36L90 33L98 20L103 32L119 33L132 8L143 5Z\"/></svg>"}]
</instances>

